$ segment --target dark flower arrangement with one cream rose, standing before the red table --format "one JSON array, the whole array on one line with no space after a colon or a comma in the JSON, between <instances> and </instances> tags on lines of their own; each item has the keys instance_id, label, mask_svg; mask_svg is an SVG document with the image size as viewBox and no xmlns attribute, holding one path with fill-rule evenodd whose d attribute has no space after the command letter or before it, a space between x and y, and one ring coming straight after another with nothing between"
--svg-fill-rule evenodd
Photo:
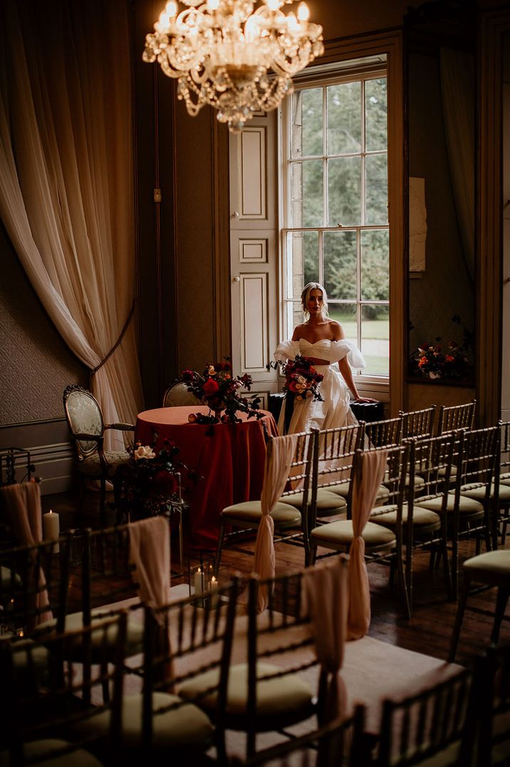
<instances>
[{"instance_id":1,"label":"dark flower arrangement with one cream rose, standing before the red table","mask_svg":"<svg viewBox=\"0 0 510 767\"><path fill-rule=\"evenodd\" d=\"M177 459L175 443L165 439L163 448L156 451L156 439L154 434L153 445L127 446L129 461L117 469L123 488L121 511L131 521L172 512L182 505L188 480L196 479L194 472Z\"/></svg>"}]
</instances>

